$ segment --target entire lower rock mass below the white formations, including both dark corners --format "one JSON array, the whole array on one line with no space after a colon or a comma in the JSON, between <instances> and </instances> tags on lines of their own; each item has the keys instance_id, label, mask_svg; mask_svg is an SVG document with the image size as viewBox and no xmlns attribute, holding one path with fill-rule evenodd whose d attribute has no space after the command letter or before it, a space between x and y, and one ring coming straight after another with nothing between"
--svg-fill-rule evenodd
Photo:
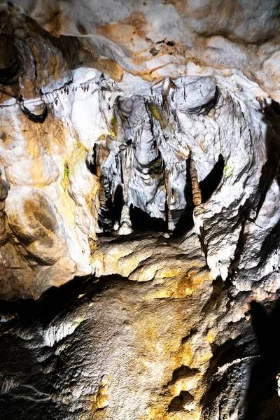
<instances>
[{"instance_id":1,"label":"entire lower rock mass below the white formations, including both dark corners","mask_svg":"<svg viewBox=\"0 0 280 420\"><path fill-rule=\"evenodd\" d=\"M2 302L0 418L277 419L279 307L237 318L248 295L212 284L198 241L186 253L180 274Z\"/></svg>"}]
</instances>

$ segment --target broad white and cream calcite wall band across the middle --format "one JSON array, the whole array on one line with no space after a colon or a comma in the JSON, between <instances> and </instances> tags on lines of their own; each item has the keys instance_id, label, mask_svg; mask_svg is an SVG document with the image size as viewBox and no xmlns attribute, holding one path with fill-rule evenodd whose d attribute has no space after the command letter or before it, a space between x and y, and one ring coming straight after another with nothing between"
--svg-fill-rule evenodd
<instances>
[{"instance_id":1,"label":"broad white and cream calcite wall band across the middle","mask_svg":"<svg viewBox=\"0 0 280 420\"><path fill-rule=\"evenodd\" d=\"M193 201L186 197L190 150L198 182L211 176L218 160L224 162L193 217L213 278L227 278L241 230L252 229L260 202L267 161L260 101L264 106L268 96L236 71L228 78L165 80L155 84L125 74L116 83L100 71L77 69L71 83L41 97L48 107L43 123L27 118L20 104L3 103L1 170L10 186L10 239L1 248L1 264L15 282L3 282L3 295L16 293L17 273L25 284L20 293L36 295L75 274L94 272L96 232L102 223L105 230L115 223L120 235L130 234L131 206L174 230L180 211ZM111 221L106 202L118 188L124 214ZM276 203L269 206L267 233L278 221ZM243 226L238 220L244 212L251 222ZM16 269L7 260L10 246L16 258L24 258ZM8 292L11 287L15 292Z\"/></svg>"}]
</instances>

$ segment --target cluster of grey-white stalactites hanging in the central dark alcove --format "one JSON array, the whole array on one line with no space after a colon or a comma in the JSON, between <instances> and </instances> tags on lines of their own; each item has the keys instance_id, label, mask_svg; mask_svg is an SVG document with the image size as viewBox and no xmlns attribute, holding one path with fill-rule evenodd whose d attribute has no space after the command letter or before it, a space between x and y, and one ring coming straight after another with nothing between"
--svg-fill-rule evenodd
<instances>
[{"instance_id":1,"label":"cluster of grey-white stalactites hanging in the central dark alcove","mask_svg":"<svg viewBox=\"0 0 280 420\"><path fill-rule=\"evenodd\" d=\"M130 207L138 207L165 220L167 229L173 231L187 205L188 171L193 204L202 202L195 159L177 116L178 108L186 114L205 115L216 104L218 91L213 80L201 80L193 80L195 87L199 82L204 88L201 97L193 95L195 106L188 104L182 80L177 86L169 78L160 81L160 94L154 94L152 85L150 96L118 95L114 100L110 135L95 143L91 158L100 181L99 225L103 230L130 234ZM116 201L121 211L119 215L115 211L113 221L109 207Z\"/></svg>"}]
</instances>

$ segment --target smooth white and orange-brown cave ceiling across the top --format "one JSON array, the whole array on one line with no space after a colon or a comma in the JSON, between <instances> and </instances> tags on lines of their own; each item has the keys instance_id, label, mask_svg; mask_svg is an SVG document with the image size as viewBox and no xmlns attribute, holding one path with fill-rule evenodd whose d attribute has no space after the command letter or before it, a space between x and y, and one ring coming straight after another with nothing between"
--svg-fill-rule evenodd
<instances>
[{"instance_id":1,"label":"smooth white and orange-brown cave ceiling across the top","mask_svg":"<svg viewBox=\"0 0 280 420\"><path fill-rule=\"evenodd\" d=\"M76 57L72 52L72 62L78 58L80 64L86 65L94 59L108 73L113 60L123 69L141 73L150 80L162 75L192 76L196 71L213 73L215 69L226 75L228 69L235 68L255 78L279 100L278 1L17 3L52 36L77 37L76 48L80 52ZM66 46L66 39L64 42ZM98 59L99 56L102 57ZM95 65L100 69L99 66Z\"/></svg>"}]
</instances>

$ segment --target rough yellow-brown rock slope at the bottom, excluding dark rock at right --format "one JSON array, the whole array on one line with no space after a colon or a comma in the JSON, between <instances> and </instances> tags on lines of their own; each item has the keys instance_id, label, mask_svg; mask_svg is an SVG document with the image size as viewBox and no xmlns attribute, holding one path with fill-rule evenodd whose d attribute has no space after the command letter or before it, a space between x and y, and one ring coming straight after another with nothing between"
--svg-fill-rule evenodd
<instances>
[{"instance_id":1,"label":"rough yellow-brown rock slope at the bottom, excluding dark rock at right","mask_svg":"<svg viewBox=\"0 0 280 420\"><path fill-rule=\"evenodd\" d=\"M104 277L44 327L35 321L31 330L15 326L3 335L1 412L20 418L17 402L8 407L15 395L30 418L199 419L218 313L204 316L207 302L214 304L211 277L199 243L192 245L197 260L185 258L181 275L145 284ZM18 372L18 362L8 367L10 345L29 352L34 379L25 367ZM241 365L250 372L248 361Z\"/></svg>"}]
</instances>

